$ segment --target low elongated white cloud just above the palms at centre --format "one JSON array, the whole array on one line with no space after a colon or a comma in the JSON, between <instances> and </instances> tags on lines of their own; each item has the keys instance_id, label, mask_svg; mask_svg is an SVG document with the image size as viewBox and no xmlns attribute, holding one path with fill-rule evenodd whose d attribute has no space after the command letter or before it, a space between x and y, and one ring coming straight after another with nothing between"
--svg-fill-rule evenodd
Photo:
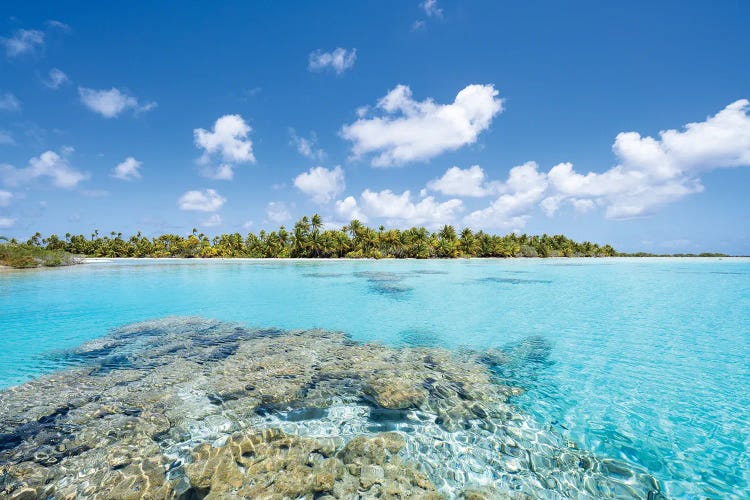
<instances>
[{"instance_id":1,"label":"low elongated white cloud just above the palms at centre","mask_svg":"<svg viewBox=\"0 0 750 500\"><path fill-rule=\"evenodd\" d=\"M396 194L390 189L365 189L359 201L348 196L336 202L336 210L345 219L367 221L382 218L388 225L396 227L437 227L452 223L463 210L463 202L453 198L441 203L432 196L427 196L415 203L410 191Z\"/></svg>"}]
</instances>

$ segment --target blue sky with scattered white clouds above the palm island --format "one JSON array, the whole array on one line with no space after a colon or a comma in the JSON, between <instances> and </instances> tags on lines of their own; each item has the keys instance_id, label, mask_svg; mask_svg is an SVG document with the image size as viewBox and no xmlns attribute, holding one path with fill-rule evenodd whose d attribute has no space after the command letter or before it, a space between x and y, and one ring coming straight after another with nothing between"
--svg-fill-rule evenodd
<instances>
[{"instance_id":1,"label":"blue sky with scattered white clouds above the palm island","mask_svg":"<svg viewBox=\"0 0 750 500\"><path fill-rule=\"evenodd\" d=\"M0 235L750 254L750 3L3 2Z\"/></svg>"}]
</instances>

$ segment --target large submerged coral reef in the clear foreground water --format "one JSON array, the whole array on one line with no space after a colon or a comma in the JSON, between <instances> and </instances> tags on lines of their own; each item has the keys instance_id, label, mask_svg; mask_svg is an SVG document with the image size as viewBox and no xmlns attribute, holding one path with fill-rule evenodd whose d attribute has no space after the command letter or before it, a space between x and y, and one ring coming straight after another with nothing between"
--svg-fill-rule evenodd
<instances>
[{"instance_id":1,"label":"large submerged coral reef in the clear foreground water","mask_svg":"<svg viewBox=\"0 0 750 500\"><path fill-rule=\"evenodd\" d=\"M390 277L367 276L368 279ZM639 497L508 399L504 351L361 344L200 318L120 328L0 392L0 497ZM116 361L114 361L116 360ZM518 382L521 380L516 379Z\"/></svg>"}]
</instances>

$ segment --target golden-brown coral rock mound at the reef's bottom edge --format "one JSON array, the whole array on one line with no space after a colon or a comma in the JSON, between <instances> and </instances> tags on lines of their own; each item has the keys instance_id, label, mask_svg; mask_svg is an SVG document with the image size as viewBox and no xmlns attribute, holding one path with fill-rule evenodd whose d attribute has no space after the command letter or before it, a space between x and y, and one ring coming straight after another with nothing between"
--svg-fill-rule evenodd
<instances>
[{"instance_id":1,"label":"golden-brown coral rock mound at the reef's bottom edge","mask_svg":"<svg viewBox=\"0 0 750 500\"><path fill-rule=\"evenodd\" d=\"M401 446L398 438L360 436L335 454L318 440L275 429L238 433L222 446L196 448L187 477L202 498L440 498L423 473L395 455Z\"/></svg>"}]
</instances>

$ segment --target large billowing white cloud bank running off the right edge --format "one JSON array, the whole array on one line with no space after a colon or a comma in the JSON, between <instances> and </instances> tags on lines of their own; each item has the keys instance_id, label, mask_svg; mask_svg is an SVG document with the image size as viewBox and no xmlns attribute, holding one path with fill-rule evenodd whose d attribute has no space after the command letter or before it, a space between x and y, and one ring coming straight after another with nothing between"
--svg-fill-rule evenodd
<instances>
[{"instance_id":1,"label":"large billowing white cloud bank running off the right edge","mask_svg":"<svg viewBox=\"0 0 750 500\"><path fill-rule=\"evenodd\" d=\"M555 200L548 213L570 201L578 209L605 207L608 218L648 215L664 204L703 191L699 174L717 168L750 166L750 117L747 100L736 101L683 131L665 130L659 138L636 132L617 135L618 164L602 173L580 174L570 163L555 165L548 177ZM583 200L590 200L588 203Z\"/></svg>"}]
</instances>

